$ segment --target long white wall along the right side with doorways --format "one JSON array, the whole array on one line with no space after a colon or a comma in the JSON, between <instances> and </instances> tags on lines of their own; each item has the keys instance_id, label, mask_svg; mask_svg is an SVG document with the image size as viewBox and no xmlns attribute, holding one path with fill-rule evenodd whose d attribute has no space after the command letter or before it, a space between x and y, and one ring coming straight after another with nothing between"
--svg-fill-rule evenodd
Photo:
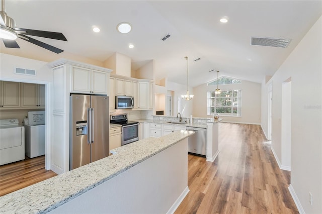
<instances>
[{"instance_id":1,"label":"long white wall along the right side with doorways","mask_svg":"<svg viewBox=\"0 0 322 214\"><path fill-rule=\"evenodd\" d=\"M272 148L282 160L282 83L292 78L291 185L300 211L322 213L322 17L262 87L262 111L267 114L267 90L272 83ZM265 112L266 111L266 112ZM267 130L267 118L262 119ZM291 191L292 192L292 191ZM313 196L313 205L308 195Z\"/></svg>"}]
</instances>

